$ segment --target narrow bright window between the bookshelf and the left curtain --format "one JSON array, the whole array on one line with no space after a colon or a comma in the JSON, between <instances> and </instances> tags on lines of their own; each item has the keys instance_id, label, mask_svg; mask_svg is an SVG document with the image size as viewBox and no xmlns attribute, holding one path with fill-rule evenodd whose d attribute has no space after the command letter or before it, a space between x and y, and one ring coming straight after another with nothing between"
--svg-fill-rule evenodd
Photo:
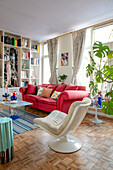
<instances>
[{"instance_id":1,"label":"narrow bright window between the bookshelf and the left curtain","mask_svg":"<svg viewBox=\"0 0 113 170\"><path fill-rule=\"evenodd\" d=\"M49 65L49 58L48 58L48 47L47 43L43 45L43 83L49 83L50 78L50 65Z\"/></svg>"}]
</instances>

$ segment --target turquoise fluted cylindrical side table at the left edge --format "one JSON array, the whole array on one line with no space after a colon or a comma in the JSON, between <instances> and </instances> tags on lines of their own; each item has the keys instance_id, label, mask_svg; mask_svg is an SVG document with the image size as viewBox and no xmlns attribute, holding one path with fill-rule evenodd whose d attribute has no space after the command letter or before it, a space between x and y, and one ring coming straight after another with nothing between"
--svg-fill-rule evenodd
<instances>
[{"instance_id":1,"label":"turquoise fluted cylindrical side table at the left edge","mask_svg":"<svg viewBox=\"0 0 113 170\"><path fill-rule=\"evenodd\" d=\"M0 118L0 164L10 162L14 157L12 119Z\"/></svg>"}]
</instances>

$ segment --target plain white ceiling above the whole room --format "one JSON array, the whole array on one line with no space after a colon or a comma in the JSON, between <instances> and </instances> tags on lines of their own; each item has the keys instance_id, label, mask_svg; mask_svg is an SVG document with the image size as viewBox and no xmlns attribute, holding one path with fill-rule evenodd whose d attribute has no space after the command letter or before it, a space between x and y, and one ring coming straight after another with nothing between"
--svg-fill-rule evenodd
<instances>
[{"instance_id":1,"label":"plain white ceiling above the whole room","mask_svg":"<svg viewBox=\"0 0 113 170\"><path fill-rule=\"evenodd\" d=\"M113 18L113 0L0 0L0 29L43 41Z\"/></svg>"}]
</instances>

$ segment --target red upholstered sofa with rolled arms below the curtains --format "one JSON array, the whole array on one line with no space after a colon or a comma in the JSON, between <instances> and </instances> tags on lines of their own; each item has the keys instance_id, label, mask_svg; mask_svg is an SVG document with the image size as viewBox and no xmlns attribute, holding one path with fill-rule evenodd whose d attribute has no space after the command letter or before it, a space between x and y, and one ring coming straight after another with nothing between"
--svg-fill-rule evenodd
<instances>
[{"instance_id":1,"label":"red upholstered sofa with rolled arms below the curtains","mask_svg":"<svg viewBox=\"0 0 113 170\"><path fill-rule=\"evenodd\" d=\"M61 92L58 101L52 98L44 98L36 95L36 86L51 88L53 91ZM84 97L88 97L85 86L74 86L71 83L69 85L60 84L42 84L42 85L31 85L27 87L20 87L22 93L22 99L33 103L30 107L34 107L40 110L51 112L53 110L60 110L68 113L71 103L74 101L81 101ZM52 93L53 93L52 91Z\"/></svg>"}]
</instances>

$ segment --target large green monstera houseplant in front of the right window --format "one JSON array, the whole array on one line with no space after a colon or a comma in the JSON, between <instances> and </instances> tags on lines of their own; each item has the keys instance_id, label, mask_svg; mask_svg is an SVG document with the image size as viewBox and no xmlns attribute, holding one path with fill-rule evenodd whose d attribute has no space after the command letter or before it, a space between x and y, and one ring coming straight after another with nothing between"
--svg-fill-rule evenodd
<instances>
[{"instance_id":1,"label":"large green monstera houseplant in front of the right window","mask_svg":"<svg viewBox=\"0 0 113 170\"><path fill-rule=\"evenodd\" d=\"M96 41L93 45L93 54L99 58L99 63L95 62L92 53L89 52L91 63L86 67L86 76L93 74L94 79L90 81L89 87L92 95L95 95L98 90L98 83L110 83L111 88L105 94L107 101L102 102L102 111L105 114L113 115L113 65L108 65L108 59L113 58L113 51L108 46L104 46L101 42Z\"/></svg>"}]
</instances>

